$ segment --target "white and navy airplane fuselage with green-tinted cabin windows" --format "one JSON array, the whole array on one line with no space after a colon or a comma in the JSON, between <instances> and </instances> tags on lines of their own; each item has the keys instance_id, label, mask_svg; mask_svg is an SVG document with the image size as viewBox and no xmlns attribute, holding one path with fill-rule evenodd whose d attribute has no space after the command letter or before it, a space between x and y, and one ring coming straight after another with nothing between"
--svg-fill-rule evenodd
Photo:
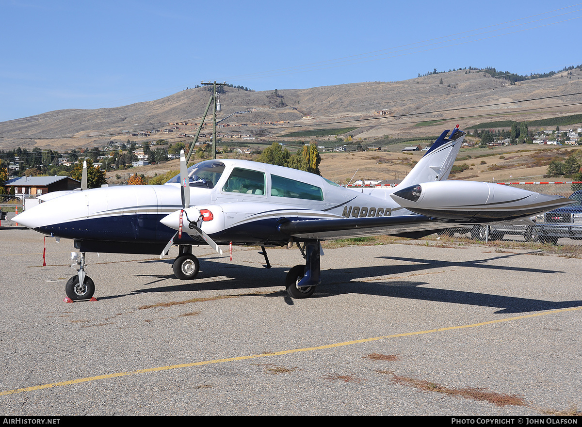
<instances>
[{"instance_id":1,"label":"white and navy airplane fuselage with green-tinted cabin windows","mask_svg":"<svg viewBox=\"0 0 582 427\"><path fill-rule=\"evenodd\" d=\"M214 218L201 227L217 243L278 245L290 237L279 230L282 222L410 213L390 197L357 193L313 173L265 163L205 161L189 168L189 180L190 205L210 209ZM162 219L182 208L176 176L164 185L75 191L41 203L18 220L49 236L74 239L81 251L157 254L176 232ZM203 242L182 233L175 243Z\"/></svg>"}]
</instances>

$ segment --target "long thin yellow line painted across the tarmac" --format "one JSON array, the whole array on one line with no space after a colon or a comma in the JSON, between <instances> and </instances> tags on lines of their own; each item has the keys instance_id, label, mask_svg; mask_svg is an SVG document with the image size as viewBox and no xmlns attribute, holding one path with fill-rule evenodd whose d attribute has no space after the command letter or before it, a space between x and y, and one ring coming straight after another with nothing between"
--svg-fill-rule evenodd
<instances>
[{"instance_id":1,"label":"long thin yellow line painted across the tarmac","mask_svg":"<svg viewBox=\"0 0 582 427\"><path fill-rule=\"evenodd\" d=\"M545 311L545 312L541 312L541 313L528 314L528 315L524 315L524 316L516 316L516 317L510 317L510 318L506 318L506 319L497 319L497 320L488 321L488 322L473 323L472 325L448 326L447 328L437 328L437 329L430 329L430 330L421 330L421 331L417 331L417 332L397 333L394 335L386 335L386 336L381 336L381 337L365 338L365 339L361 339L361 340L345 341L343 343L327 344L325 346L295 348L293 350L276 351L274 353L251 354L248 356L229 357L229 358L225 358L225 359L216 359L216 360L206 360L206 361L201 361L201 362L184 363L181 365L158 366L157 368L138 369L137 371L108 373L106 375L90 376L87 378L77 378L77 379L72 379L72 380L68 380L68 381L61 381L61 382L57 382L57 383L43 384L40 386L24 387L23 389L6 390L4 392L0 392L0 396L6 396L7 394L33 392L34 390L50 389L51 387L69 386L69 385L73 385L73 384L86 383L86 382L97 381L97 380L108 379L108 378L118 378L120 376L136 375L138 373L168 371L169 369L191 368L192 366L203 366L203 365L211 365L211 364L217 364L217 363L234 362L237 360L249 360L249 359L255 359L255 358L259 358L259 357L280 356L280 355L284 355L284 354L302 353L302 352L314 351L314 350L325 350L326 348L351 346L353 344L369 343L371 341L386 340L389 338L399 338L399 337L407 337L407 336L414 336L414 335L423 335L423 334L427 334L427 333L443 332L445 330L477 328L478 326L494 325L495 323L511 322L511 321L516 321L516 320L520 320L520 319L528 319L528 318L533 318L533 317L537 317L537 316L545 316L548 314L563 313L563 312L567 312L567 311L577 311L577 310L581 310L581 309L582 309L582 307L563 308L563 309L559 309L559 310Z\"/></svg>"}]
</instances>

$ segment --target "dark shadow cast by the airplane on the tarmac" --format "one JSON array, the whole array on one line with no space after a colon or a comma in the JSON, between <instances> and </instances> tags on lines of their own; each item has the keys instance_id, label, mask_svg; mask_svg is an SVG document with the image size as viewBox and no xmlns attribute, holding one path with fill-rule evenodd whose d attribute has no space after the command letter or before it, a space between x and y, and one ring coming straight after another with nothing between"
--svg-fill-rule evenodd
<instances>
[{"instance_id":1,"label":"dark shadow cast by the airplane on the tarmac","mask_svg":"<svg viewBox=\"0 0 582 427\"><path fill-rule=\"evenodd\" d=\"M502 255L499 257L480 259L475 261L455 262L442 261L438 259L378 257L382 259L392 259L394 261L403 261L407 264L322 269L321 276L323 283L317 287L312 298L324 298L346 293L359 293L364 295L377 295L393 298L407 298L440 303L479 305L481 307L499 308L498 311L495 311L495 314L545 311L551 309L582 306L581 300L556 302L471 291L436 289L423 287L423 285L430 284L427 282L394 280L390 277L386 277L385 280L375 280L374 282L358 280L371 276L377 277L385 275L399 275L446 267L485 268L542 274L562 273L561 271L549 269L532 269L520 266L485 264L486 262L494 261L495 259L507 258L514 255L519 254ZM168 267L170 267L172 263L172 261L168 260L143 262L161 262L162 264L168 264ZM408 264L409 262L414 262L416 264ZM151 280L150 282L144 283L143 289L136 290L133 293L189 292L200 290L237 291L240 293L240 290L244 288L257 290L257 288L260 289L281 286L281 291L271 292L265 294L265 296L283 297L286 304L293 305L296 303L293 302L292 298L287 296L287 293L283 287L283 283L285 283L285 273L288 270L288 267L272 266L272 268L266 269L257 268L254 265L247 266L243 264L225 264L223 262L213 261L211 258L205 258L200 260L200 272L198 273L196 279L193 281L181 281L176 279L173 276L171 269L169 269L167 275L136 275L137 277L150 277ZM170 280L172 284L164 286L166 280ZM157 284L159 284L159 286L147 287L148 285ZM519 284L516 286L519 286ZM242 292L238 295L244 296L244 294L245 293ZM249 296L250 295L252 294L249 293ZM105 300L108 298L122 296L123 295L101 297L101 299Z\"/></svg>"}]
</instances>

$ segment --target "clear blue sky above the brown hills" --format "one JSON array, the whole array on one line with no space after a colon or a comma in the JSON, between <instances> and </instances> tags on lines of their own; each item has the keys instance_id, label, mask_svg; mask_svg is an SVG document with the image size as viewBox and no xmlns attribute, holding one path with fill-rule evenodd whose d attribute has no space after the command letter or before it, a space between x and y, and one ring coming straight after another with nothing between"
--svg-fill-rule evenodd
<instances>
[{"instance_id":1,"label":"clear blue sky above the brown hills","mask_svg":"<svg viewBox=\"0 0 582 427\"><path fill-rule=\"evenodd\" d=\"M582 63L582 3L567 1L0 0L0 16L0 122L201 80L274 90Z\"/></svg>"}]
</instances>

